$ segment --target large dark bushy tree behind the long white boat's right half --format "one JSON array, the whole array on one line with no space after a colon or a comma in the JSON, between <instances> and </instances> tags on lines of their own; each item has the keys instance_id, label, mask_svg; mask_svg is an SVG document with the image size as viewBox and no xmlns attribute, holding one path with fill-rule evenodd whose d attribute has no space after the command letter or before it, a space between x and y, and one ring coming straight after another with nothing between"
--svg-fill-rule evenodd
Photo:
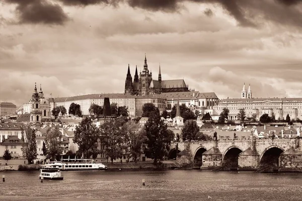
<instances>
[{"instance_id":1,"label":"large dark bushy tree behind the long white boat's right half","mask_svg":"<svg viewBox=\"0 0 302 201\"><path fill-rule=\"evenodd\" d=\"M98 150L98 139L100 129L92 124L91 118L81 121L79 126L75 127L73 142L78 144L78 155L84 155L84 158L90 158Z\"/></svg>"}]
</instances>

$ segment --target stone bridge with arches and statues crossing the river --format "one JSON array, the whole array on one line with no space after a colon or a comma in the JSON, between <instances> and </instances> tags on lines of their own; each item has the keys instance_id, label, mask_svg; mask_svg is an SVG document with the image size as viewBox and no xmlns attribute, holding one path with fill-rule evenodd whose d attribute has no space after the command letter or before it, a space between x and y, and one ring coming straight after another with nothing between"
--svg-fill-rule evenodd
<instances>
[{"instance_id":1,"label":"stone bridge with arches and statues crossing the river","mask_svg":"<svg viewBox=\"0 0 302 201\"><path fill-rule=\"evenodd\" d=\"M232 166L258 169L265 166L302 168L302 139L222 140L173 143L169 158L204 169Z\"/></svg>"}]
</instances>

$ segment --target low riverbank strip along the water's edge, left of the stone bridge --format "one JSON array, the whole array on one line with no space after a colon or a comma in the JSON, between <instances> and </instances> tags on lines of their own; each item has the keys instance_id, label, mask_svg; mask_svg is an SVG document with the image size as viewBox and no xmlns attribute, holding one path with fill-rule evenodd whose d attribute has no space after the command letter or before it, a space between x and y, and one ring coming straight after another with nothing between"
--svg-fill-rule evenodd
<instances>
[{"instance_id":1,"label":"low riverbank strip along the water's edge, left of the stone bridge","mask_svg":"<svg viewBox=\"0 0 302 201\"><path fill-rule=\"evenodd\" d=\"M117 169L171 169L176 166L174 161L164 161L161 165L154 165L152 161L148 162L129 162L129 163L103 163L107 165L108 170L117 170ZM41 165L31 164L31 165L1 165L0 171L31 171L39 170Z\"/></svg>"}]
</instances>

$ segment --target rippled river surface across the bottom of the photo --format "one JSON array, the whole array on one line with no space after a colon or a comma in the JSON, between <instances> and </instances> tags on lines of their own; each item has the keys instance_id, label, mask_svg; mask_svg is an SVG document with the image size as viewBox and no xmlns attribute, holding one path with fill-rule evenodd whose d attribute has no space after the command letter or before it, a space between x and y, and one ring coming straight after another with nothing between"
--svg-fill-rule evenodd
<instances>
[{"instance_id":1,"label":"rippled river surface across the bottom of the photo","mask_svg":"<svg viewBox=\"0 0 302 201\"><path fill-rule=\"evenodd\" d=\"M39 171L2 174L0 200L302 200L302 173L64 171L64 180L43 183Z\"/></svg>"}]
</instances>

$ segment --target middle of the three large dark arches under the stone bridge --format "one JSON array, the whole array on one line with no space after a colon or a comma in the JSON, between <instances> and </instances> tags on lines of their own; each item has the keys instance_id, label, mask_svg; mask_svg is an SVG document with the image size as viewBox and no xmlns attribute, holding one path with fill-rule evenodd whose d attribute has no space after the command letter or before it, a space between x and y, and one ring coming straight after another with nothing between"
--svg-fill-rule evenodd
<instances>
[{"instance_id":1,"label":"middle of the three large dark arches under the stone bridge","mask_svg":"<svg viewBox=\"0 0 302 201\"><path fill-rule=\"evenodd\" d=\"M238 167L238 156L243 150L238 146L231 146L225 150L222 155L222 165L231 165L232 167Z\"/></svg>"}]
</instances>

